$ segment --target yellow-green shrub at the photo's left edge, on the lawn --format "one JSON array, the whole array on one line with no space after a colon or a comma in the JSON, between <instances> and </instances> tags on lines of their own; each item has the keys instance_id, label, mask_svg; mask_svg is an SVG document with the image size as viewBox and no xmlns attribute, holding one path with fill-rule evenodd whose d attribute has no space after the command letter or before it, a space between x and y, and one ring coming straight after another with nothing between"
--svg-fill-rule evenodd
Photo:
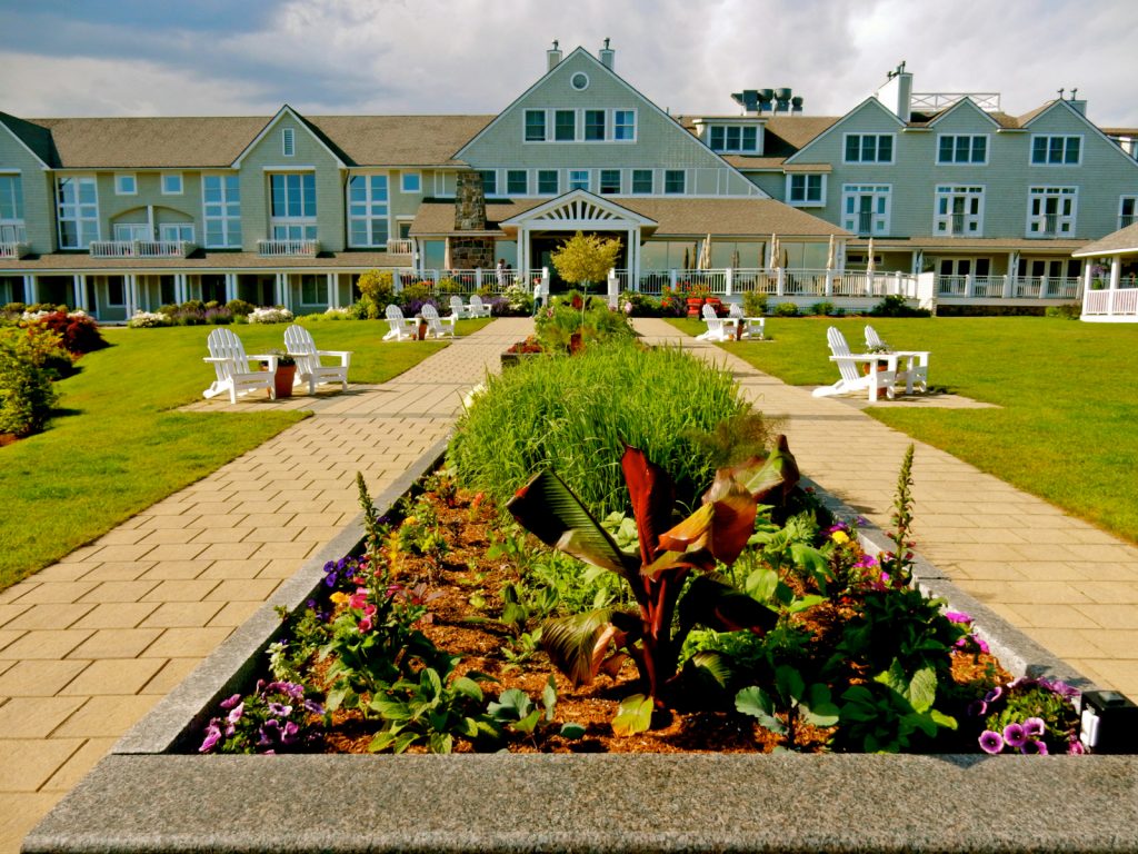
<instances>
[{"instance_id":1,"label":"yellow-green shrub at the photo's left edge, on the lawn","mask_svg":"<svg viewBox=\"0 0 1138 854\"><path fill-rule=\"evenodd\" d=\"M58 338L50 331L0 329L0 433L26 436L47 425L56 391L55 371L46 366L53 358L49 351L59 350Z\"/></svg>"}]
</instances>

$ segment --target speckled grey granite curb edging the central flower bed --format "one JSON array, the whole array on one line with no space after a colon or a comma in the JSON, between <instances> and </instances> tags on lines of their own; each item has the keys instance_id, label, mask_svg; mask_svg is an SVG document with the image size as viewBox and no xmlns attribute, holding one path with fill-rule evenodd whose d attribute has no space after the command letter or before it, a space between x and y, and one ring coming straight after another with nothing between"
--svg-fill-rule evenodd
<instances>
[{"instance_id":1,"label":"speckled grey granite curb edging the central flower bed","mask_svg":"<svg viewBox=\"0 0 1138 854\"><path fill-rule=\"evenodd\" d=\"M380 512L442 458L432 446ZM816 484L840 515L855 514ZM91 851L1135 851L1138 757L978 755L195 756L362 516L113 748L28 835L25 852ZM871 552L888 548L871 526ZM1017 675L1089 681L942 573L914 577Z\"/></svg>"}]
</instances>

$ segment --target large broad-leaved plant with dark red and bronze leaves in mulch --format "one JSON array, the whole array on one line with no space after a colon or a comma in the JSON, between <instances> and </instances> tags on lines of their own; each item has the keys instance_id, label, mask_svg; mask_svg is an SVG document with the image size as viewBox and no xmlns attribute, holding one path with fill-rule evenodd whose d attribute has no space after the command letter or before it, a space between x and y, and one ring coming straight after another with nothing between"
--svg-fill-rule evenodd
<instances>
[{"instance_id":1,"label":"large broad-leaved plant with dark red and bronze leaves in mulch","mask_svg":"<svg viewBox=\"0 0 1138 854\"><path fill-rule=\"evenodd\" d=\"M700 508L673 526L674 491L665 470L627 445L620 466L638 533L634 553L621 550L552 471L536 475L506 509L547 545L619 575L638 606L637 614L607 608L546 622L542 642L554 664L575 683L588 683L602 668L619 666L627 654L648 695L662 704L694 625L756 632L774 626L773 611L710 575L696 576L686 589L685 582L693 572L707 573L739 558L758 502L789 492L798 468L780 437L765 462L721 469Z\"/></svg>"}]
</instances>

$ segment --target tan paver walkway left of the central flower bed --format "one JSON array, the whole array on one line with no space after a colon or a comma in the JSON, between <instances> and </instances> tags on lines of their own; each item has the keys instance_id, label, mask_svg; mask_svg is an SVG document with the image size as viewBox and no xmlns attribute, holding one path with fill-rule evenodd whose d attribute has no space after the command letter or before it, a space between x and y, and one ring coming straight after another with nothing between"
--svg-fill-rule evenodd
<instances>
[{"instance_id":1,"label":"tan paver walkway left of the central flower bed","mask_svg":"<svg viewBox=\"0 0 1138 854\"><path fill-rule=\"evenodd\" d=\"M355 517L357 470L382 491L530 329L496 320L347 394L195 404L314 416L0 592L0 853Z\"/></svg>"}]
</instances>

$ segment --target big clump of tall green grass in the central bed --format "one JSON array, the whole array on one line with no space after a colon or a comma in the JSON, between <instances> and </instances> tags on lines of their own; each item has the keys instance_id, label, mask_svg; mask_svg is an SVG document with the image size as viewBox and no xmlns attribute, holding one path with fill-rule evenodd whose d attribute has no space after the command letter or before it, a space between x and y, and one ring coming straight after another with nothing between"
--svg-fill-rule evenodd
<instances>
[{"instance_id":1,"label":"big clump of tall green grass in the central bed","mask_svg":"<svg viewBox=\"0 0 1138 854\"><path fill-rule=\"evenodd\" d=\"M463 484L501 502L553 468L603 518L629 509L618 463L628 442L673 475L677 500L690 506L712 475L710 452L690 430L748 409L728 372L678 350L613 340L489 377L460 419L450 457Z\"/></svg>"}]
</instances>

